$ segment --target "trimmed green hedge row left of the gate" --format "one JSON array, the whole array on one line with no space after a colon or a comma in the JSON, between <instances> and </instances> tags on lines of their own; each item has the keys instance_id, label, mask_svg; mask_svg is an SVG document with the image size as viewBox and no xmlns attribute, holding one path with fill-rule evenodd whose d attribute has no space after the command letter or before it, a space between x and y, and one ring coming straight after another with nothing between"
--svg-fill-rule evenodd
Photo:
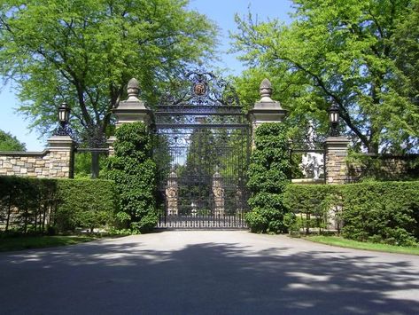
<instances>
[{"instance_id":1,"label":"trimmed green hedge row left of the gate","mask_svg":"<svg viewBox=\"0 0 419 315\"><path fill-rule=\"evenodd\" d=\"M109 180L0 177L0 230L93 231L113 222L118 207Z\"/></svg>"}]
</instances>

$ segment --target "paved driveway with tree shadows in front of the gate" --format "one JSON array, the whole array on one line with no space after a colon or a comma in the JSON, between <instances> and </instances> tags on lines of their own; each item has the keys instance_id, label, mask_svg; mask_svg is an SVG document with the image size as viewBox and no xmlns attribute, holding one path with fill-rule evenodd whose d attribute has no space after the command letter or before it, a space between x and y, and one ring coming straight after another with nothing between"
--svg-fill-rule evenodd
<instances>
[{"instance_id":1,"label":"paved driveway with tree shadows in front of the gate","mask_svg":"<svg viewBox=\"0 0 419 315\"><path fill-rule=\"evenodd\" d=\"M2 314L419 314L419 256L249 232L0 255Z\"/></svg>"}]
</instances>

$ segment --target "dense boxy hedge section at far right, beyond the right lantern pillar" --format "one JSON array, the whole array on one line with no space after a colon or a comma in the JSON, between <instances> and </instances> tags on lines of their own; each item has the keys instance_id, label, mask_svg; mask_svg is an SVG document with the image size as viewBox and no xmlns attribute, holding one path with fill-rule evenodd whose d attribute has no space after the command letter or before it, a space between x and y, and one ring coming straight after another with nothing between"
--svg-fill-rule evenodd
<instances>
[{"instance_id":1,"label":"dense boxy hedge section at far right, beyond the right lantern pillar","mask_svg":"<svg viewBox=\"0 0 419 315\"><path fill-rule=\"evenodd\" d=\"M393 245L419 239L419 182L362 183L342 186L343 235L378 238Z\"/></svg>"}]
</instances>

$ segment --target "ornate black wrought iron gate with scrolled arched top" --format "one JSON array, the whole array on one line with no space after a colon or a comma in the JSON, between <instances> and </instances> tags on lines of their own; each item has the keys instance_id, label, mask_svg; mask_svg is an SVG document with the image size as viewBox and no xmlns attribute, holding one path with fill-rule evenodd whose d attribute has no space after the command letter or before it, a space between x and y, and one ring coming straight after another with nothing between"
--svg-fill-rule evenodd
<instances>
[{"instance_id":1,"label":"ornate black wrought iron gate with scrolled arched top","mask_svg":"<svg viewBox=\"0 0 419 315\"><path fill-rule=\"evenodd\" d=\"M244 228L250 129L235 91L208 72L155 111L158 227Z\"/></svg>"}]
</instances>

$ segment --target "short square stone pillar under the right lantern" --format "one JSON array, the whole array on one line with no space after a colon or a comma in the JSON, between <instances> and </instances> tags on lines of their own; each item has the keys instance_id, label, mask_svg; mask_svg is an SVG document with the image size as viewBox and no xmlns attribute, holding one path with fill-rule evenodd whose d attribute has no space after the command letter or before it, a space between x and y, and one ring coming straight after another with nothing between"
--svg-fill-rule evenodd
<instances>
[{"instance_id":1,"label":"short square stone pillar under the right lantern","mask_svg":"<svg viewBox=\"0 0 419 315\"><path fill-rule=\"evenodd\" d=\"M326 139L326 184L345 184L348 144L349 140L341 136Z\"/></svg>"}]
</instances>

